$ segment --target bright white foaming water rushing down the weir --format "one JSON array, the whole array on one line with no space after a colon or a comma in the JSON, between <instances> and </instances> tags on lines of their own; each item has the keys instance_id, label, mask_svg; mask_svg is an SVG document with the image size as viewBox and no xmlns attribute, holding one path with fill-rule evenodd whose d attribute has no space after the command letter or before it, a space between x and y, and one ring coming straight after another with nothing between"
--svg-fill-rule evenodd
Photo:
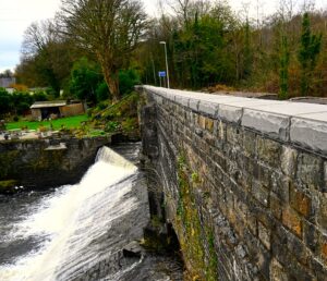
<instances>
[{"instance_id":1,"label":"bright white foaming water rushing down the weir","mask_svg":"<svg viewBox=\"0 0 327 281\"><path fill-rule=\"evenodd\" d=\"M132 190L128 179L136 170L111 149L101 148L80 184L59 188L16 225L12 237L48 235L48 240L15 265L0 267L0 280L57 280L56 274L69 280L74 270L95 264L101 251L110 251L104 241L112 221L137 207L137 200L126 196Z\"/></svg>"}]
</instances>

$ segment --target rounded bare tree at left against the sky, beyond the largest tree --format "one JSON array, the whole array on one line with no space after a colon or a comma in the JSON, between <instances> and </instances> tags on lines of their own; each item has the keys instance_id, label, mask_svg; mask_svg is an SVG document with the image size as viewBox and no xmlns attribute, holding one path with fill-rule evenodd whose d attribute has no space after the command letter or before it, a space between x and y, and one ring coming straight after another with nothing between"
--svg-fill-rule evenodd
<instances>
[{"instance_id":1,"label":"rounded bare tree at left against the sky, beyond the largest tree","mask_svg":"<svg viewBox=\"0 0 327 281\"><path fill-rule=\"evenodd\" d=\"M50 86L57 95L72 66L71 44L59 36L55 21L32 23L25 30L21 63L16 68L20 83L31 87Z\"/></svg>"}]
</instances>

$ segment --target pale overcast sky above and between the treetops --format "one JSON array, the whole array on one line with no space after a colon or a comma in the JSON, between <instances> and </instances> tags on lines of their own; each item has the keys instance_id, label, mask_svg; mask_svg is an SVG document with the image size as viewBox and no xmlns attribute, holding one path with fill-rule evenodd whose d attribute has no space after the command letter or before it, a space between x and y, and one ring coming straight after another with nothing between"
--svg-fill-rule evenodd
<instances>
[{"instance_id":1,"label":"pale overcast sky above and between the treetops","mask_svg":"<svg viewBox=\"0 0 327 281\"><path fill-rule=\"evenodd\" d=\"M150 15L158 15L157 0L143 0ZM172 1L172 0L170 0ZM279 0L230 0L234 11L242 9L242 2L250 4L254 14L257 1L261 13L272 13ZM300 0L302 1L302 0ZM299 2L300 2L299 1ZM61 0L1 0L0 3L0 72L20 62L20 50L24 30L34 21L50 19L59 10ZM316 0L316 8L327 9L326 0Z\"/></svg>"}]
</instances>

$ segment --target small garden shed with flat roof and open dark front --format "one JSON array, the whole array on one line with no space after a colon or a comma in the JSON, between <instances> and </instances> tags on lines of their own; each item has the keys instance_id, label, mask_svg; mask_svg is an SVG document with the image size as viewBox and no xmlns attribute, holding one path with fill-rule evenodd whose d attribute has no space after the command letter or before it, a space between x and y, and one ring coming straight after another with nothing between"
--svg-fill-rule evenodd
<instances>
[{"instance_id":1,"label":"small garden shed with flat roof and open dark front","mask_svg":"<svg viewBox=\"0 0 327 281\"><path fill-rule=\"evenodd\" d=\"M73 117L85 112L82 102L68 102L65 100L36 101L32 105L31 111L34 120Z\"/></svg>"}]
</instances>

